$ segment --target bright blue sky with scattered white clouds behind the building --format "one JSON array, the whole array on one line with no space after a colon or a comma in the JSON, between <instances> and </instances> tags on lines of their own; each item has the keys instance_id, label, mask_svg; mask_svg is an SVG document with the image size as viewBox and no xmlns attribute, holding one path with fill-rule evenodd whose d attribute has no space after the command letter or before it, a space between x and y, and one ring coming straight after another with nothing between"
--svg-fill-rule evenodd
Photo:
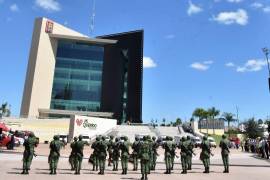
<instances>
[{"instance_id":1,"label":"bright blue sky with scattered white clouds behind the building","mask_svg":"<svg viewBox=\"0 0 270 180\"><path fill-rule=\"evenodd\" d=\"M0 0L0 102L19 115L33 23L90 35L92 0ZM144 29L143 120L189 119L215 106L270 116L270 0L96 0L91 36Z\"/></svg>"}]
</instances>

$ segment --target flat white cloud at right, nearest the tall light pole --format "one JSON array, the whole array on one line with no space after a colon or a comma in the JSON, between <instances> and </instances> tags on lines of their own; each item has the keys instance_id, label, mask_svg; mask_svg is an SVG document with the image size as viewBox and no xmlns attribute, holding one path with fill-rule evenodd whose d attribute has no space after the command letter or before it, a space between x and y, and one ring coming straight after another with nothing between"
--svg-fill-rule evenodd
<instances>
[{"instance_id":1,"label":"flat white cloud at right, nearest the tall light pole","mask_svg":"<svg viewBox=\"0 0 270 180\"><path fill-rule=\"evenodd\" d=\"M261 59L251 59L248 60L243 66L238 66L236 68L237 72L256 72L262 70L264 66L267 65L267 62L265 60Z\"/></svg>"}]
</instances>

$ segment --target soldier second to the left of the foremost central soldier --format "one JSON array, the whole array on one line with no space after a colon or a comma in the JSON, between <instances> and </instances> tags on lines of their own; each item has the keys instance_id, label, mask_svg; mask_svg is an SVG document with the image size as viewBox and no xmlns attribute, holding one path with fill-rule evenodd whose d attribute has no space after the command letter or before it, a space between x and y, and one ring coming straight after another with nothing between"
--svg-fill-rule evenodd
<instances>
[{"instance_id":1,"label":"soldier second to the left of the foremost central soldier","mask_svg":"<svg viewBox=\"0 0 270 180\"><path fill-rule=\"evenodd\" d=\"M124 136L124 142L120 144L122 174L127 174L128 158L129 158L129 146L130 146L130 144L128 142L128 137Z\"/></svg>"}]
</instances>

